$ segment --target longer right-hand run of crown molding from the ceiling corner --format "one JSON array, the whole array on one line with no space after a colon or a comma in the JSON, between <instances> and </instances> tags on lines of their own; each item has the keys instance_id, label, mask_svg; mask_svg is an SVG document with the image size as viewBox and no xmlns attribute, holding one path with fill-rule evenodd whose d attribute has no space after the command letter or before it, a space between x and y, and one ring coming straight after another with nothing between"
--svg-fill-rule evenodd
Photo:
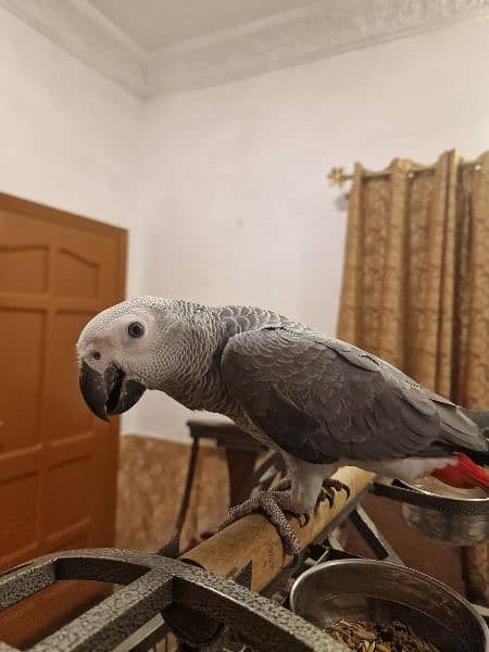
<instances>
[{"instance_id":1,"label":"longer right-hand run of crown molding from the ceiling corner","mask_svg":"<svg viewBox=\"0 0 489 652\"><path fill-rule=\"evenodd\" d=\"M489 16L489 0L316 0L308 7L164 48L151 95L216 86Z\"/></svg>"}]
</instances>

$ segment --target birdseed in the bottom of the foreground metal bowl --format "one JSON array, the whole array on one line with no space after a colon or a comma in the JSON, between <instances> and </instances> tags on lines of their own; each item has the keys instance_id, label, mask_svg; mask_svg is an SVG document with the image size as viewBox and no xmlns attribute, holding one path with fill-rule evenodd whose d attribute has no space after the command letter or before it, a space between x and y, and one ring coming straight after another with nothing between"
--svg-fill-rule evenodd
<instances>
[{"instance_id":1,"label":"birdseed in the bottom of the foreground metal bowl","mask_svg":"<svg viewBox=\"0 0 489 652\"><path fill-rule=\"evenodd\" d=\"M355 652L441 652L399 620L383 624L340 619L326 631Z\"/></svg>"}]
</instances>

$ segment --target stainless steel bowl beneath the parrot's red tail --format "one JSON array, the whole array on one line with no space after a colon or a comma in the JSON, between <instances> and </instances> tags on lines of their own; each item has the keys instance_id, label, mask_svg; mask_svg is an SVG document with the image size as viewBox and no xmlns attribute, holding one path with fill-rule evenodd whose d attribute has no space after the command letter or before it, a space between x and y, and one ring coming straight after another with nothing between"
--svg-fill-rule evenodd
<instances>
[{"instance_id":1,"label":"stainless steel bowl beneath the parrot's red tail","mask_svg":"<svg viewBox=\"0 0 489 652\"><path fill-rule=\"evenodd\" d=\"M489 499L482 498L484 492L452 489L435 478L425 484L400 485L443 500L442 509L404 503L401 512L408 525L454 546L475 546L489 539Z\"/></svg>"}]
</instances>

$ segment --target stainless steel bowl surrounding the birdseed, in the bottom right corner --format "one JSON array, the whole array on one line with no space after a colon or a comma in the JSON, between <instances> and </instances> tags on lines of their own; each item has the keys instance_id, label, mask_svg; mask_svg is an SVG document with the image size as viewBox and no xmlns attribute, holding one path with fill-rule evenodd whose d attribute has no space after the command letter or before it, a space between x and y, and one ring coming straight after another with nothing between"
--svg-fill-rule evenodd
<instances>
[{"instance_id":1,"label":"stainless steel bowl surrounding the birdseed, in the bottom right corner","mask_svg":"<svg viewBox=\"0 0 489 652\"><path fill-rule=\"evenodd\" d=\"M412 568L371 560L325 562L303 573L292 610L318 627L339 618L400 620L440 652L489 652L489 631L474 607L442 582Z\"/></svg>"}]
</instances>

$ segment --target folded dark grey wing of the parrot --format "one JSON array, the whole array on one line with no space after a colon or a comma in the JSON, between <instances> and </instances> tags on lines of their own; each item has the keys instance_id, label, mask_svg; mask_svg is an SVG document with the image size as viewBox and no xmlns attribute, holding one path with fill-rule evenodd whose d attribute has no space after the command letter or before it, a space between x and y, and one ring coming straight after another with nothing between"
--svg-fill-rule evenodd
<instances>
[{"instance_id":1,"label":"folded dark grey wing of the parrot","mask_svg":"<svg viewBox=\"0 0 489 652\"><path fill-rule=\"evenodd\" d=\"M236 335L224 349L222 375L256 427L310 462L488 450L456 405L375 355L313 331Z\"/></svg>"}]
</instances>

